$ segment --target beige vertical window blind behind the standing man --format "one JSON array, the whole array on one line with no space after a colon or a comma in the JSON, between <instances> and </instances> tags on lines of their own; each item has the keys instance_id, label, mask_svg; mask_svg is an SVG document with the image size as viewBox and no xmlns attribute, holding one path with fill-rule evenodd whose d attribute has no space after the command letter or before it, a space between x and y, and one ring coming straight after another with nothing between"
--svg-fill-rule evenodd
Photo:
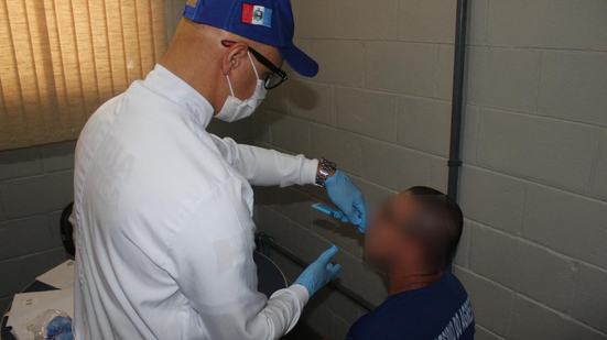
<instances>
[{"instance_id":1,"label":"beige vertical window blind behind the standing man","mask_svg":"<svg viewBox=\"0 0 607 340\"><path fill-rule=\"evenodd\" d=\"M0 150L76 139L165 50L163 0L0 1Z\"/></svg>"}]
</instances>

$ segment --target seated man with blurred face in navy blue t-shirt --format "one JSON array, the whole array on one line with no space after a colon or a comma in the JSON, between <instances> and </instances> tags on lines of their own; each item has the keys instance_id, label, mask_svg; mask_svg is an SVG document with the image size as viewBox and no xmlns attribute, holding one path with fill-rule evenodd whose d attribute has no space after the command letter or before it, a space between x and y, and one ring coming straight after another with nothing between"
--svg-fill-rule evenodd
<instances>
[{"instance_id":1,"label":"seated man with blurred face in navy blue t-shirt","mask_svg":"<svg viewBox=\"0 0 607 340\"><path fill-rule=\"evenodd\" d=\"M376 210L365 253L390 278L390 296L350 328L347 340L474 339L474 312L462 283L445 271L464 218L427 187L395 195Z\"/></svg>"}]
</instances>

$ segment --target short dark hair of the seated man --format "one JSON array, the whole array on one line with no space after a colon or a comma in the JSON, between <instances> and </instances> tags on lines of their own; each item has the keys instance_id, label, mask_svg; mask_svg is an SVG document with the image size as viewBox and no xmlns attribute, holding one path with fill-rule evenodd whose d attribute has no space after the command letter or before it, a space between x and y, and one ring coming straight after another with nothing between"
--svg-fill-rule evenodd
<instances>
[{"instance_id":1,"label":"short dark hair of the seated man","mask_svg":"<svg viewBox=\"0 0 607 340\"><path fill-rule=\"evenodd\" d=\"M415 186L407 190L415 200L420 202L424 208L429 209L432 213L441 213L445 218L445 226L437 226L444 230L444 239L441 242L443 249L441 250L442 263L437 264L441 267L445 267L451 263L455 256L457 250L457 243L462 238L462 230L464 228L464 215L457 202L447 195L425 186ZM423 198L422 198L423 197Z\"/></svg>"}]
</instances>

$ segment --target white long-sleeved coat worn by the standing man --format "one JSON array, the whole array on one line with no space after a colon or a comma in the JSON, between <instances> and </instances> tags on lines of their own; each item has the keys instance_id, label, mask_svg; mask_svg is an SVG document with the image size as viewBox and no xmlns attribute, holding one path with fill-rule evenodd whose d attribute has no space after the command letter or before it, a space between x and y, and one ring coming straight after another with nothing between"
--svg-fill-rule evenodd
<instances>
[{"instance_id":1,"label":"white long-sleeved coat worn by the standing man","mask_svg":"<svg viewBox=\"0 0 607 340\"><path fill-rule=\"evenodd\" d=\"M257 290L250 184L312 184L318 162L209 134L213 111L158 65L84 128L72 216L78 340L278 339L296 323L303 286L269 300Z\"/></svg>"}]
</instances>

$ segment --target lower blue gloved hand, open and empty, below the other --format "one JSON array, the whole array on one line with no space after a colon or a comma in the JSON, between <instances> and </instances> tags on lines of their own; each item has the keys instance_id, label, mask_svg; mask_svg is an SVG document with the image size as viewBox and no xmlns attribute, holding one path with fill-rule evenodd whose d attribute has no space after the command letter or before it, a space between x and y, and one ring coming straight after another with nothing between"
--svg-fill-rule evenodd
<instances>
[{"instance_id":1,"label":"lower blue gloved hand, open and empty, below the other","mask_svg":"<svg viewBox=\"0 0 607 340\"><path fill-rule=\"evenodd\" d=\"M335 254L337 254L337 246L333 245L308 265L293 284L304 286L312 297L314 293L324 287L335 277L335 275L337 275L337 273L339 273L339 270L342 270L342 265L329 263Z\"/></svg>"}]
</instances>

